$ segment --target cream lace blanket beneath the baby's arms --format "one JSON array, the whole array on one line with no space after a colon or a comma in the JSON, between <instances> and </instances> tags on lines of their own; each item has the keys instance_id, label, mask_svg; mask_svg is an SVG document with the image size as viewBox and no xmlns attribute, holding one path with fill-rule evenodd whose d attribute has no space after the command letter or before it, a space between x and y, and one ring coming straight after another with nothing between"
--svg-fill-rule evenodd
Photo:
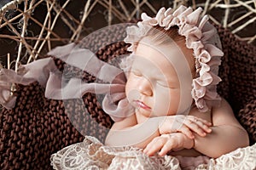
<instances>
[{"instance_id":1,"label":"cream lace blanket beneath the baby's arms","mask_svg":"<svg viewBox=\"0 0 256 170\"><path fill-rule=\"evenodd\" d=\"M50 157L54 169L256 169L256 144L239 148L217 159L207 156L146 156L141 149L109 147L96 138L86 136L84 141L59 150Z\"/></svg>"}]
</instances>

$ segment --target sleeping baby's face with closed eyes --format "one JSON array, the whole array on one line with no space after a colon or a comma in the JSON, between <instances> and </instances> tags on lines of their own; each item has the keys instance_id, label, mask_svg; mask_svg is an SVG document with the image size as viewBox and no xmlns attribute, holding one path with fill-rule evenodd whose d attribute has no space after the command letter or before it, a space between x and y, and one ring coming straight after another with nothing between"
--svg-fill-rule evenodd
<instances>
[{"instance_id":1,"label":"sleeping baby's face with closed eyes","mask_svg":"<svg viewBox=\"0 0 256 170\"><path fill-rule=\"evenodd\" d=\"M184 59L175 45L154 48L147 43L138 44L125 87L137 113L146 117L166 116L189 109L192 76Z\"/></svg>"}]
</instances>

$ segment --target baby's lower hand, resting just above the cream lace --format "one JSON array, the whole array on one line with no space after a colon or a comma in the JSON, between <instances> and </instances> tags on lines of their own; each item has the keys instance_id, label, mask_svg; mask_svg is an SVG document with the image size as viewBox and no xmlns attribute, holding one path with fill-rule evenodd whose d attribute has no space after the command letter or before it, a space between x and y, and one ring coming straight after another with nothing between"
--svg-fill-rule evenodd
<instances>
[{"instance_id":1,"label":"baby's lower hand, resting just above the cream lace","mask_svg":"<svg viewBox=\"0 0 256 170\"><path fill-rule=\"evenodd\" d=\"M143 150L148 156L160 151L159 156L165 156L170 150L191 149L194 146L194 139L189 139L183 133L162 134L155 137Z\"/></svg>"}]
</instances>

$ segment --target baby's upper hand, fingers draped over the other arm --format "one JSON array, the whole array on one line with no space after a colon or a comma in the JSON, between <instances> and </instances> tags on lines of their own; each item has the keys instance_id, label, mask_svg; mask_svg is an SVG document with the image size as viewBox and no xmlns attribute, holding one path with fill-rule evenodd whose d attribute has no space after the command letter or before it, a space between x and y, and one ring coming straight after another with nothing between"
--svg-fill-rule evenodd
<instances>
[{"instance_id":1,"label":"baby's upper hand, fingers draped over the other arm","mask_svg":"<svg viewBox=\"0 0 256 170\"><path fill-rule=\"evenodd\" d=\"M204 137L207 133L212 132L211 125L211 122L196 116L166 116L165 120L159 125L159 132L160 134L181 132L190 139L194 139L195 136L192 132Z\"/></svg>"}]
</instances>

